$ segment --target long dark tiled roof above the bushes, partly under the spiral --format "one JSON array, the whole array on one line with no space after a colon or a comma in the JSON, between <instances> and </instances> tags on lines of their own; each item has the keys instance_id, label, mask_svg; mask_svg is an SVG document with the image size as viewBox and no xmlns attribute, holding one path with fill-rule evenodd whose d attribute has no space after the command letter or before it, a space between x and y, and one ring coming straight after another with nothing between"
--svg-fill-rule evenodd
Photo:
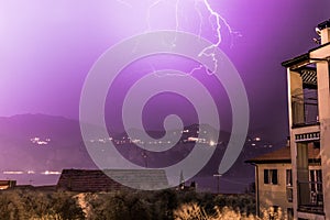
<instances>
[{"instance_id":1,"label":"long dark tiled roof above the bushes, partly under the spiral","mask_svg":"<svg viewBox=\"0 0 330 220\"><path fill-rule=\"evenodd\" d=\"M57 183L57 189L69 191L112 191L134 188L157 188L168 186L163 169L64 169Z\"/></svg>"}]
</instances>

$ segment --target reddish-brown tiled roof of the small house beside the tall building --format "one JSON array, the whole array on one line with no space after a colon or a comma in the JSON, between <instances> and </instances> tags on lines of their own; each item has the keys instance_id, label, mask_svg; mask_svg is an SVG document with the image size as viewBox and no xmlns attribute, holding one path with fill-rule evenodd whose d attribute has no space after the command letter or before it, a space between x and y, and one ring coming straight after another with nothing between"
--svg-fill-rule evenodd
<instances>
[{"instance_id":1,"label":"reddish-brown tiled roof of the small house beside the tall building","mask_svg":"<svg viewBox=\"0 0 330 220\"><path fill-rule=\"evenodd\" d=\"M315 147L314 144L308 144L308 158L309 160L320 160L320 148ZM246 161L246 163L256 163L256 164L262 164L262 163L290 163L292 157L290 157L290 147L285 146L279 150L276 150L271 153L263 154L261 156L251 158Z\"/></svg>"}]
</instances>

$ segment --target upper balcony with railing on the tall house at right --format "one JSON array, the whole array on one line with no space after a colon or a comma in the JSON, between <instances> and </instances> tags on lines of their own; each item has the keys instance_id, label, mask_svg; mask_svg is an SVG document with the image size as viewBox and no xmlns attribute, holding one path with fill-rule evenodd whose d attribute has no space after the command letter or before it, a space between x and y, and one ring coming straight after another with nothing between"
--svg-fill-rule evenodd
<instances>
[{"instance_id":1,"label":"upper balcony with railing on the tall house at right","mask_svg":"<svg viewBox=\"0 0 330 220\"><path fill-rule=\"evenodd\" d=\"M292 96L292 111L294 128L318 124L317 90L304 89L304 94Z\"/></svg>"}]
</instances>

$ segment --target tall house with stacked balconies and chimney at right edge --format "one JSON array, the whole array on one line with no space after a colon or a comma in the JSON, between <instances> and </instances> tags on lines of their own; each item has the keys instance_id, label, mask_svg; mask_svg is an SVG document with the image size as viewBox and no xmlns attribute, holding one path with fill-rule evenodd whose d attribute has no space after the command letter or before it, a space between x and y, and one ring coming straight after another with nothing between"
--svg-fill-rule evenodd
<instances>
[{"instance_id":1,"label":"tall house with stacked balconies and chimney at right edge","mask_svg":"<svg viewBox=\"0 0 330 220\"><path fill-rule=\"evenodd\" d=\"M320 45L284 62L295 219L330 219L330 20L317 26ZM309 167L309 145L319 147L320 169Z\"/></svg>"}]
</instances>

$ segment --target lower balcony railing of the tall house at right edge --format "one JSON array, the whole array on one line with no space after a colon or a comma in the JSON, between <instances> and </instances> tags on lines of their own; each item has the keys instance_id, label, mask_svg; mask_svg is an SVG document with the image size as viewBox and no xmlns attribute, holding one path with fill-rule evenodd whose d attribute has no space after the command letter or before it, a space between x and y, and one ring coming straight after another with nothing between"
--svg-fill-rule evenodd
<instances>
[{"instance_id":1,"label":"lower balcony railing of the tall house at right edge","mask_svg":"<svg viewBox=\"0 0 330 220\"><path fill-rule=\"evenodd\" d=\"M321 182L298 183L298 210L323 213L323 193Z\"/></svg>"}]
</instances>

